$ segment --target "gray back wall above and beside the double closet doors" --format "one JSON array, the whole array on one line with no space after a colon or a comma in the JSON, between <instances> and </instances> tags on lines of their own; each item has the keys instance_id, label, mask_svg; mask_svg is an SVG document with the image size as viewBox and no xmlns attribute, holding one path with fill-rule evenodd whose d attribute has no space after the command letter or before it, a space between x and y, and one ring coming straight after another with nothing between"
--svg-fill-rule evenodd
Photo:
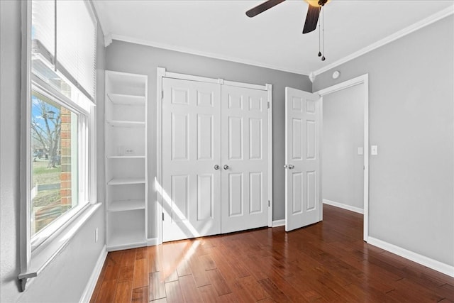
<instances>
[{"instance_id":1,"label":"gray back wall above and beside the double closet doors","mask_svg":"<svg viewBox=\"0 0 454 303\"><path fill-rule=\"evenodd\" d=\"M307 76L279 72L236 62L212 59L197 55L162 50L144 45L114 41L106 49L106 69L148 75L148 155L149 179L156 175L156 67L165 67L170 72L223 78L253 84L270 83L273 101L273 219L284 219L284 87L311 91ZM155 194L150 186L150 211L154 210ZM151 213L149 218L155 218ZM150 237L155 235L155 223L150 221Z\"/></svg>"}]
</instances>

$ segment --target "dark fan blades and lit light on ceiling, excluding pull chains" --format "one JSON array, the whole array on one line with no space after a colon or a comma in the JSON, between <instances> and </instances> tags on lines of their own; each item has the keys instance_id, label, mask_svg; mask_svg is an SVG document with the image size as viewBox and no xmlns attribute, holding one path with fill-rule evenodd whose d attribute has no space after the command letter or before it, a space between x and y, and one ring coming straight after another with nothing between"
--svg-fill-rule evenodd
<instances>
[{"instance_id":1,"label":"dark fan blades and lit light on ceiling, excluding pull chains","mask_svg":"<svg viewBox=\"0 0 454 303\"><path fill-rule=\"evenodd\" d=\"M249 11L246 11L246 16L252 18L284 1L285 0L265 1L262 4L253 7ZM310 33L317 28L321 8L326 4L326 2L328 2L328 0L306 0L306 2L309 3L309 9L307 10L306 21L304 22L303 33Z\"/></svg>"}]
</instances>

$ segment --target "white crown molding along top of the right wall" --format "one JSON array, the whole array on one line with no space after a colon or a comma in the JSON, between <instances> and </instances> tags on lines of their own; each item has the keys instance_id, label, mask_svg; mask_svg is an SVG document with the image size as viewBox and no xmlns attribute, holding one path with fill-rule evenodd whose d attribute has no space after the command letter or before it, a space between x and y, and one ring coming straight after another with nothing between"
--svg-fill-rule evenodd
<instances>
[{"instance_id":1,"label":"white crown molding along top of the right wall","mask_svg":"<svg viewBox=\"0 0 454 303\"><path fill-rule=\"evenodd\" d=\"M383 38L382 40L378 40L375 43L372 43L369 46L366 46L365 48L362 48L355 53L351 53L348 56L343 57L340 60L337 60L336 62L333 62L329 65L326 65L325 67L321 67L319 70L315 70L314 72L311 72L310 74L313 74L314 77L317 75L320 75L322 72L326 72L327 70L331 70L334 67L337 67L338 65L341 65L345 62L348 62L350 60L355 59L356 57L360 57L361 55L364 55L366 53L369 53L372 50L375 50L377 48L382 47L383 45L386 45L388 43L391 43L394 40L397 40L399 38L404 37L405 35L409 35L410 33L413 33L414 31L418 31L419 29L426 27L428 25L431 25L432 23L435 23L436 21L439 21L443 18L446 18L454 13L454 5L448 6L446 9L443 9L442 11L439 11L438 13L434 13L431 16L428 16L427 18L424 18L421 21L418 21L411 26L408 26L401 31L397 31L396 33L393 33L392 35L387 36L386 38Z\"/></svg>"}]
</instances>

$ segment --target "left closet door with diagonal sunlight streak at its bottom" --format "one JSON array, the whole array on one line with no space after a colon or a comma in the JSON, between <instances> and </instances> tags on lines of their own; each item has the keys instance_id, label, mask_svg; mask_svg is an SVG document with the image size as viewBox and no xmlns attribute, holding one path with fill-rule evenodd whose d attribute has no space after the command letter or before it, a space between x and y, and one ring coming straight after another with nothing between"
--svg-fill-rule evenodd
<instances>
[{"instance_id":1,"label":"left closet door with diagonal sunlight streak at its bottom","mask_svg":"<svg viewBox=\"0 0 454 303\"><path fill-rule=\"evenodd\" d=\"M221 88L162 79L162 240L221 233Z\"/></svg>"}]
</instances>

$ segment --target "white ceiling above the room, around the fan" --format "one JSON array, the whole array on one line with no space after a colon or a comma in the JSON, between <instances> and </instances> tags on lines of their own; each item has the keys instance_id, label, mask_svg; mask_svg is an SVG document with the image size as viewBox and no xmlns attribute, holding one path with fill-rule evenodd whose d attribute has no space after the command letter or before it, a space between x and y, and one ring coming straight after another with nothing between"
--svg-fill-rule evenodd
<instances>
[{"instance_id":1,"label":"white ceiling above the room, around the fan","mask_svg":"<svg viewBox=\"0 0 454 303\"><path fill-rule=\"evenodd\" d=\"M287 0L254 18L245 16L263 1L94 0L94 6L104 34L114 40L309 75L426 18L450 14L454 4L331 0L323 9L326 61L321 62L319 32L301 33L308 4Z\"/></svg>"}]
</instances>

